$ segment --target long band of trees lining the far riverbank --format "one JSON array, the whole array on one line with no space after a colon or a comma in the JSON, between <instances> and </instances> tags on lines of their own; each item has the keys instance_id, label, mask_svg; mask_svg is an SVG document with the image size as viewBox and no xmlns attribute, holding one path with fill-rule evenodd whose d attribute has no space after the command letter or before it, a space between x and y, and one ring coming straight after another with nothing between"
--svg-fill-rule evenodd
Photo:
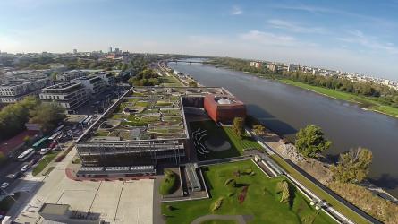
<instances>
[{"instance_id":1,"label":"long band of trees lining the far riverbank","mask_svg":"<svg viewBox=\"0 0 398 224\"><path fill-rule=\"evenodd\" d=\"M313 75L310 73L297 72L272 72L267 67L261 68L251 67L250 61L230 58L219 57L209 62L214 65L220 65L232 68L237 71L257 73L260 76L267 78L285 78L296 82L304 82L309 85L325 87L332 90L339 90L349 92L363 97L368 97L378 102L398 108L398 91L388 86L377 84L374 82L352 82L349 79L340 78L336 76L325 77L321 75Z\"/></svg>"}]
</instances>

